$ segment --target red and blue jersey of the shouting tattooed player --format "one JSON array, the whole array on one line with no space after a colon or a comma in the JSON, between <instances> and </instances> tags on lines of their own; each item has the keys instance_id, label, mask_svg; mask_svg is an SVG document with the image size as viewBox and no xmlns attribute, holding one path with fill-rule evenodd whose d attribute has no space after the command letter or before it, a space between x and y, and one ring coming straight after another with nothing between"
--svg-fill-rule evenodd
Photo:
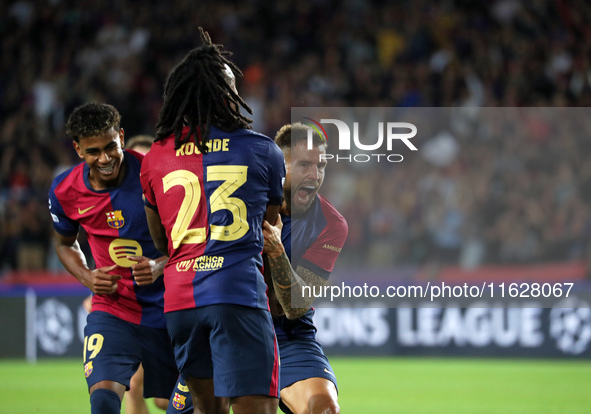
<instances>
[{"instance_id":1,"label":"red and blue jersey of the shouting tattooed player","mask_svg":"<svg viewBox=\"0 0 591 414\"><path fill-rule=\"evenodd\" d=\"M348 226L345 218L332 204L316 195L316 200L301 216L282 217L281 239L291 267L302 266L328 279L345 245ZM289 320L285 316L274 320L277 340L306 339L316 336L312 320L314 309L304 316Z\"/></svg>"}]
</instances>

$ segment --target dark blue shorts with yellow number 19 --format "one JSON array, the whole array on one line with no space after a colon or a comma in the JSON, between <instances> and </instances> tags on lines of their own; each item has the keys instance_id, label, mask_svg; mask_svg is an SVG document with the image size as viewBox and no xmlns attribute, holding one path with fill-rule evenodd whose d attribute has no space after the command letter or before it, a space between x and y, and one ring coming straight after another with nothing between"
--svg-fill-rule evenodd
<instances>
[{"instance_id":1,"label":"dark blue shorts with yellow number 19","mask_svg":"<svg viewBox=\"0 0 591 414\"><path fill-rule=\"evenodd\" d=\"M129 389L140 362L146 398L170 398L178 378L166 329L136 325L106 312L91 312L86 319L83 359L89 389L100 381Z\"/></svg>"}]
</instances>

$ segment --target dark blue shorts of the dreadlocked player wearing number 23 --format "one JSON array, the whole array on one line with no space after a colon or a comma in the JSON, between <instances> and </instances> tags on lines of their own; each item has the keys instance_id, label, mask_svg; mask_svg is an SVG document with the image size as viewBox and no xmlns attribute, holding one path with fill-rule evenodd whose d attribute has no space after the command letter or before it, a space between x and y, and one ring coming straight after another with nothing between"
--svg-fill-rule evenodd
<instances>
[{"instance_id":1,"label":"dark blue shorts of the dreadlocked player wearing number 23","mask_svg":"<svg viewBox=\"0 0 591 414\"><path fill-rule=\"evenodd\" d=\"M213 378L217 397L279 397L279 353L268 310L220 304L166 314L183 379Z\"/></svg>"}]
</instances>

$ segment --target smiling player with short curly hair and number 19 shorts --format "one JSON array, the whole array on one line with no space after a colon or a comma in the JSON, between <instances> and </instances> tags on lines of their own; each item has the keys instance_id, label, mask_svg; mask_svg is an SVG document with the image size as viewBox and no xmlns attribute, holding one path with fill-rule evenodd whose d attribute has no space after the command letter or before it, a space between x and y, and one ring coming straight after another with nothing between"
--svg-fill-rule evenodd
<instances>
[{"instance_id":1,"label":"smiling player with short curly hair and number 19 shorts","mask_svg":"<svg viewBox=\"0 0 591 414\"><path fill-rule=\"evenodd\" d=\"M178 371L163 313L166 257L155 248L143 208L143 155L123 150L121 116L111 105L76 108L66 133L83 163L55 178L49 209L55 249L65 268L93 293L84 328L84 374L91 413L121 411L140 362L146 397L169 398ZM77 242L88 233L96 269Z\"/></svg>"}]
</instances>

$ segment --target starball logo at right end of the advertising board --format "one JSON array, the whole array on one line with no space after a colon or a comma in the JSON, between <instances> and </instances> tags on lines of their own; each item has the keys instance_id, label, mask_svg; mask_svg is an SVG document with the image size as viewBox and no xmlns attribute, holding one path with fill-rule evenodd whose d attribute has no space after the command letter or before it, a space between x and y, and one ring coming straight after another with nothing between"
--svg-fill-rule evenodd
<instances>
[{"instance_id":1,"label":"starball logo at right end of the advertising board","mask_svg":"<svg viewBox=\"0 0 591 414\"><path fill-rule=\"evenodd\" d=\"M550 311L550 336L565 354L579 355L591 341L591 308L577 298L559 302Z\"/></svg>"}]
</instances>

